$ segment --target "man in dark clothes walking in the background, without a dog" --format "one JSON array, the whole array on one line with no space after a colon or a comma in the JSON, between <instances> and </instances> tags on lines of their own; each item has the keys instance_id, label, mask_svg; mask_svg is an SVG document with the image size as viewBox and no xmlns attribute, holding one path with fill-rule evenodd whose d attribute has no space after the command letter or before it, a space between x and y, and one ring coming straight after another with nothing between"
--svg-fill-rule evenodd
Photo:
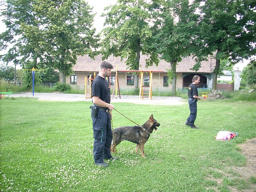
<instances>
[{"instance_id":1,"label":"man in dark clothes walking in the background, without a dog","mask_svg":"<svg viewBox=\"0 0 256 192\"><path fill-rule=\"evenodd\" d=\"M200 77L194 76L192 79L192 84L189 85L188 91L190 115L186 119L185 125L188 125L192 129L198 129L198 127L196 127L194 124L197 114L197 101L201 100L201 97L198 97L198 90L196 87L198 84L200 84Z\"/></svg>"}]
</instances>

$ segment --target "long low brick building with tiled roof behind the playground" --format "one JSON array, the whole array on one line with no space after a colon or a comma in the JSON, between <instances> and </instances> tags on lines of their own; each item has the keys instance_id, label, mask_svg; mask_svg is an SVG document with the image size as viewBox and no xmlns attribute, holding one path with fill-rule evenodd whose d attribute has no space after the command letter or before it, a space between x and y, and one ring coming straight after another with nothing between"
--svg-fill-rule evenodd
<instances>
[{"instance_id":1,"label":"long low brick building with tiled roof behind the playground","mask_svg":"<svg viewBox=\"0 0 256 192\"><path fill-rule=\"evenodd\" d=\"M140 67L139 70L147 71L143 73L143 84L148 84L149 82L149 71L153 72L152 75L152 90L159 91L170 91L172 89L172 84L168 83L167 71L170 69L170 63L160 60L158 66L151 66L145 68L145 60L148 58L146 55L140 56ZM114 69L111 70L111 77L109 81L111 84L114 84L116 76L116 67L118 73L119 87L120 89L128 90L133 89L133 78L134 73L129 72L125 61L121 61L120 57L110 56L107 59L110 62ZM89 78L94 76L94 74L99 73L99 65L102 62L102 56L98 55L95 59L91 59L88 55L79 56L77 64L73 67L74 74L66 78L66 83L76 84L77 86L84 87L85 77ZM192 77L194 75L201 76L201 85L200 87L212 87L212 72L215 67L216 60L209 58L208 61L202 61L201 68L195 72L191 69L195 65L195 60L192 57L183 58L181 62L177 64L176 73L177 73L177 88L188 87L192 83ZM139 75L139 86L140 86L140 72Z\"/></svg>"}]
</instances>

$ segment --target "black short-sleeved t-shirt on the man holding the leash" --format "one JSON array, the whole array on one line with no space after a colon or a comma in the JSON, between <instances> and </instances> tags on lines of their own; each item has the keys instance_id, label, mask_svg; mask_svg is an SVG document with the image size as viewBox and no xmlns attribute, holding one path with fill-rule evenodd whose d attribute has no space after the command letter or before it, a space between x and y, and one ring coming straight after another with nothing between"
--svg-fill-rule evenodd
<instances>
[{"instance_id":1,"label":"black short-sleeved t-shirt on the man holding the leash","mask_svg":"<svg viewBox=\"0 0 256 192\"><path fill-rule=\"evenodd\" d=\"M92 96L97 96L106 103L110 103L110 87L108 81L101 76L96 76L92 83Z\"/></svg>"}]
</instances>

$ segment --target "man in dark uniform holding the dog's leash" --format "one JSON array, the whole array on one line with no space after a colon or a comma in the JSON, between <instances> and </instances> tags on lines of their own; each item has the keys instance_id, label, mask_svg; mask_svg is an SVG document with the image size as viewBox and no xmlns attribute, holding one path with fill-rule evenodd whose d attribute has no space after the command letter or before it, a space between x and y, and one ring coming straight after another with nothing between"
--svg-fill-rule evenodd
<instances>
[{"instance_id":1,"label":"man in dark uniform holding the dog's leash","mask_svg":"<svg viewBox=\"0 0 256 192\"><path fill-rule=\"evenodd\" d=\"M108 164L104 163L103 159L118 159L110 153L113 137L110 111L113 110L114 105L110 104L110 87L105 78L109 76L111 69L113 69L112 64L102 61L99 74L92 83L93 157L96 165L104 167Z\"/></svg>"}]
</instances>

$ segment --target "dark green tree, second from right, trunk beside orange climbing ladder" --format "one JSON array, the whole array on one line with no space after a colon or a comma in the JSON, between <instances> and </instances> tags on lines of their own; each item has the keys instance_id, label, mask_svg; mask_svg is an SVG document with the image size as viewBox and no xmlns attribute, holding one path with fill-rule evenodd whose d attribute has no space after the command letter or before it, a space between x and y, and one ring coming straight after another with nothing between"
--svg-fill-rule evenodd
<instances>
[{"instance_id":1,"label":"dark green tree, second from right, trunk beside orange climbing ladder","mask_svg":"<svg viewBox=\"0 0 256 192\"><path fill-rule=\"evenodd\" d=\"M188 56L192 41L192 30L196 30L199 15L195 13L197 3L189 0L160 1L163 9L157 19L158 31L154 35L154 45L161 58L170 62L168 72L172 79L172 94L176 91L176 66L182 57Z\"/></svg>"}]
</instances>

